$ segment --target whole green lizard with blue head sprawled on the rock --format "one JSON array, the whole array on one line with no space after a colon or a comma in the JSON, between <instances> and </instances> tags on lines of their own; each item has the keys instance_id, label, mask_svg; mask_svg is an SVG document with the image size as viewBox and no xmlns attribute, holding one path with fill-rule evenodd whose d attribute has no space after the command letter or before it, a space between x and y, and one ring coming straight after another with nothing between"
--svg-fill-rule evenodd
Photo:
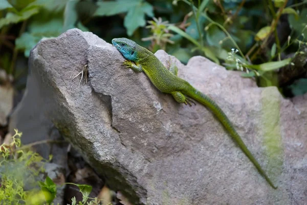
<instances>
[{"instance_id":1,"label":"whole green lizard with blue head sprawled on the rock","mask_svg":"<svg viewBox=\"0 0 307 205\"><path fill-rule=\"evenodd\" d=\"M193 101L189 98L192 98L209 108L218 120L221 121L246 156L253 162L259 173L265 177L274 189L277 189L255 157L248 150L222 109L207 95L196 90L186 80L178 77L178 68L176 66L172 66L168 70L153 53L139 46L133 40L127 38L114 38L112 39L112 44L126 59L128 59L123 62L123 65L126 65L127 68L131 68L135 72L144 71L151 83L161 92L171 94L178 103L191 105ZM131 61L134 61L135 64L131 63Z\"/></svg>"}]
</instances>

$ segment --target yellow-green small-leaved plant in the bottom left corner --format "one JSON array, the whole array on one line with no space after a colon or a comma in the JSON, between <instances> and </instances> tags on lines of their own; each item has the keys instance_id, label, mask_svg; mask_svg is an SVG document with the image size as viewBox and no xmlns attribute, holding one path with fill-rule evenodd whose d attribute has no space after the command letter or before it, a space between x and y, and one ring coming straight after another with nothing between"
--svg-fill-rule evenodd
<instances>
[{"instance_id":1,"label":"yellow-green small-leaved plant in the bottom left corner","mask_svg":"<svg viewBox=\"0 0 307 205\"><path fill-rule=\"evenodd\" d=\"M35 177L45 171L43 162L46 160L35 152L20 149L21 134L15 130L12 142L0 146L0 203L2 204L26 202L31 191L25 190L25 186L35 189Z\"/></svg>"}]
</instances>

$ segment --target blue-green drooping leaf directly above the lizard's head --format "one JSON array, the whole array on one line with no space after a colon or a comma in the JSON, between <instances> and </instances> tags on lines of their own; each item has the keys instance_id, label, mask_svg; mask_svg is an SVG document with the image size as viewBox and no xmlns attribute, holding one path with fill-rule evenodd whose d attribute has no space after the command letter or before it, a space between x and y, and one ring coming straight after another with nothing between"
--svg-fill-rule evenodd
<instances>
[{"instance_id":1,"label":"blue-green drooping leaf directly above the lizard's head","mask_svg":"<svg viewBox=\"0 0 307 205\"><path fill-rule=\"evenodd\" d=\"M128 11L124 19L124 26L127 29L128 36L131 36L138 27L146 25L145 13L149 16L153 16L152 6L147 2L144 2Z\"/></svg>"}]
</instances>

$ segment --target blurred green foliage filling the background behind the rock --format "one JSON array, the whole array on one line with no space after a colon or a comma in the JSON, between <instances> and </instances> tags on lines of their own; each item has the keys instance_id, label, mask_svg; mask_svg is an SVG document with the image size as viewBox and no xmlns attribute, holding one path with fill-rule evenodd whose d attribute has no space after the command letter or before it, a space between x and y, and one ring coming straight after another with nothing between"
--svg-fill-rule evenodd
<instances>
[{"instance_id":1,"label":"blurred green foliage filling the background behind the rock","mask_svg":"<svg viewBox=\"0 0 307 205\"><path fill-rule=\"evenodd\" d=\"M108 42L126 36L183 63L203 55L245 71L259 86L304 93L301 83L293 83L307 77L307 65L293 62L307 57L306 5L306 0L2 0L0 66L16 76L20 51L29 57L40 39L78 28ZM288 72L280 83L284 68L302 72L291 77Z\"/></svg>"}]
</instances>

